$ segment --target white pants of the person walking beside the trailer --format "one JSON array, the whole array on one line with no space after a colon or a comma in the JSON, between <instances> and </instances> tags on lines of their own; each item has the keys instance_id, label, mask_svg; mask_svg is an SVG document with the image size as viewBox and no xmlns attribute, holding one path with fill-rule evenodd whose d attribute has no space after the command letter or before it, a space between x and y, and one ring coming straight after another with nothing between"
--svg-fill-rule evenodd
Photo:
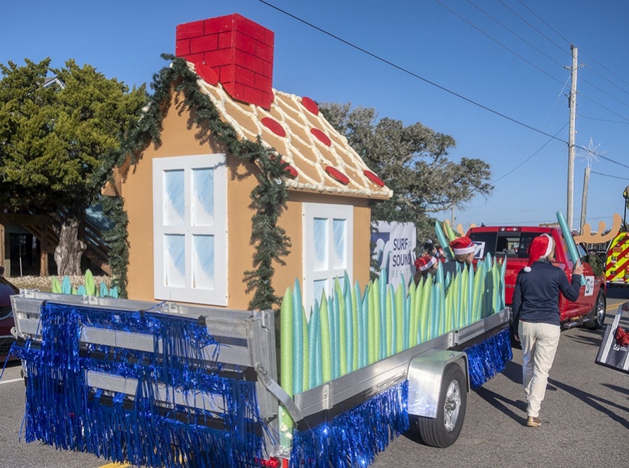
<instances>
[{"instance_id":1,"label":"white pants of the person walking beside the trailer","mask_svg":"<svg viewBox=\"0 0 629 468\"><path fill-rule=\"evenodd\" d=\"M561 328L549 323L520 321L518 333L522 344L522 383L528 403L526 414L540 416Z\"/></svg>"}]
</instances>

